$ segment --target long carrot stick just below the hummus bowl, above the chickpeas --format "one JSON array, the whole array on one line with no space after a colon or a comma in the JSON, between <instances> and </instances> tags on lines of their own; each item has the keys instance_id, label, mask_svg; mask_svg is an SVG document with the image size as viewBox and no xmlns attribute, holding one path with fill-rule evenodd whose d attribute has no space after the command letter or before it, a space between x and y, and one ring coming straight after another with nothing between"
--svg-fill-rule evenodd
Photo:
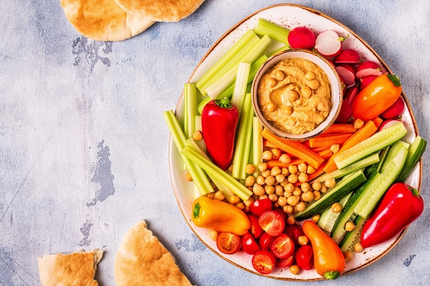
<instances>
[{"instance_id":1,"label":"long carrot stick just below the hummus bowl, above the chickpeas","mask_svg":"<svg viewBox=\"0 0 430 286\"><path fill-rule=\"evenodd\" d=\"M310 150L308 147L304 146L302 143L280 138L279 136L272 134L266 128L262 130L261 135L265 139L270 141L273 145L280 148L280 150L283 150L288 154L292 154L293 156L304 160L306 163L308 163L315 169L317 169L322 163L324 163L324 158Z\"/></svg>"}]
</instances>

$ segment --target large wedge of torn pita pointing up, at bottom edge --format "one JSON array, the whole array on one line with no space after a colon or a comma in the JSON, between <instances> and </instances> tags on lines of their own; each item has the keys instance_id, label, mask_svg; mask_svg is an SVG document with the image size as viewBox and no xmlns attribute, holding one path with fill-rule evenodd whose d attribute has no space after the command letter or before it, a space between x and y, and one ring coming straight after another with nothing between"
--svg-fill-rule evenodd
<instances>
[{"instance_id":1,"label":"large wedge of torn pita pointing up, at bottom edge","mask_svg":"<svg viewBox=\"0 0 430 286\"><path fill-rule=\"evenodd\" d=\"M115 257L117 286L191 286L174 257L152 235L144 220L130 228Z\"/></svg>"}]
</instances>

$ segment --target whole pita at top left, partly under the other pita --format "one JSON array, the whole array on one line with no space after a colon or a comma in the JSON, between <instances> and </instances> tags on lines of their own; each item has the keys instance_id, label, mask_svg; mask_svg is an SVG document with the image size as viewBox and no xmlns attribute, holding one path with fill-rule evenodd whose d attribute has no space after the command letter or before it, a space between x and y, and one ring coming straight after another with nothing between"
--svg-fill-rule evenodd
<instances>
[{"instance_id":1,"label":"whole pita at top left, partly under the other pita","mask_svg":"<svg viewBox=\"0 0 430 286\"><path fill-rule=\"evenodd\" d=\"M76 31L92 40L126 40L154 23L127 13L115 0L60 0L60 3Z\"/></svg>"}]
</instances>

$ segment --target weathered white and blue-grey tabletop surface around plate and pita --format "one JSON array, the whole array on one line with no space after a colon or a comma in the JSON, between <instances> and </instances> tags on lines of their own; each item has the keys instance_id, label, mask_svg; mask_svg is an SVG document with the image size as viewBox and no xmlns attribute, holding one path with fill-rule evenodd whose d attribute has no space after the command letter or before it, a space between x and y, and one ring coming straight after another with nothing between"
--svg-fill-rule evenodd
<instances>
[{"instance_id":1,"label":"weathered white and blue-grey tabletop surface around plate and pita","mask_svg":"<svg viewBox=\"0 0 430 286\"><path fill-rule=\"evenodd\" d=\"M178 23L119 43L82 37L58 0L0 5L0 284L40 285L37 257L103 248L115 285L125 231L146 219L196 285L293 285L247 273L207 250L183 219L162 112L210 46L242 18L283 1L206 0ZM400 76L430 139L429 1L295 1L357 32ZM422 195L430 202L430 152ZM335 282L430 285L429 208L383 259Z\"/></svg>"}]
</instances>

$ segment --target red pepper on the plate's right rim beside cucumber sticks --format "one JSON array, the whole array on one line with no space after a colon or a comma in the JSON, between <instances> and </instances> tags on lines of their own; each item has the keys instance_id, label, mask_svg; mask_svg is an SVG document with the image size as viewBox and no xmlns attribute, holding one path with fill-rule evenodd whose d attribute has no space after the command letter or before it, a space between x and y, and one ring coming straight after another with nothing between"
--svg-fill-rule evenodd
<instances>
[{"instance_id":1,"label":"red pepper on the plate's right rim beside cucumber sticks","mask_svg":"<svg viewBox=\"0 0 430 286\"><path fill-rule=\"evenodd\" d=\"M383 243L398 235L424 211L424 201L411 186L396 182L385 193L361 233L364 248Z\"/></svg>"}]
</instances>

